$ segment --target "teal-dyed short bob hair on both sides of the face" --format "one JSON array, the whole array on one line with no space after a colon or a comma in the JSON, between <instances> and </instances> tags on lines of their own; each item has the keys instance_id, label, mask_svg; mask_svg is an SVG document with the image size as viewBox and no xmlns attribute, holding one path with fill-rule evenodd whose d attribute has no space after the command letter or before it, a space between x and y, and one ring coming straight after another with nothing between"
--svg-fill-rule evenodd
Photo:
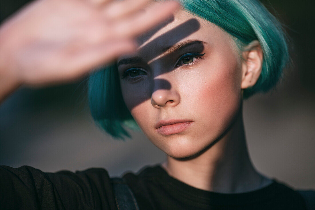
<instances>
[{"instance_id":1,"label":"teal-dyed short bob hair on both sides of the face","mask_svg":"<svg viewBox=\"0 0 315 210\"><path fill-rule=\"evenodd\" d=\"M276 85L289 61L288 45L281 24L258 0L180 0L180 3L187 12L232 35L239 52L253 40L259 41L263 51L262 72L257 83L243 91L244 99ZM91 73L88 95L92 117L112 137L130 137L123 126L139 129L123 101L116 63Z\"/></svg>"}]
</instances>

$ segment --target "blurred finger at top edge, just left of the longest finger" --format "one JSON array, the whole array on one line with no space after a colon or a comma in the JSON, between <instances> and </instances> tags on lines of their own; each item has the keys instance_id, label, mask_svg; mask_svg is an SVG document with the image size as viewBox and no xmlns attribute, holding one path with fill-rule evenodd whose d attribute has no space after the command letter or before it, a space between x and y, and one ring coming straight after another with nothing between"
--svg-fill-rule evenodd
<instances>
[{"instance_id":1,"label":"blurred finger at top edge, just left of the longest finger","mask_svg":"<svg viewBox=\"0 0 315 210\"><path fill-rule=\"evenodd\" d=\"M125 16L128 16L140 9L144 9L149 2L152 0L124 0L124 1L115 1L109 4L104 10L103 13L106 15L106 18L109 19L118 19Z\"/></svg>"}]
</instances>

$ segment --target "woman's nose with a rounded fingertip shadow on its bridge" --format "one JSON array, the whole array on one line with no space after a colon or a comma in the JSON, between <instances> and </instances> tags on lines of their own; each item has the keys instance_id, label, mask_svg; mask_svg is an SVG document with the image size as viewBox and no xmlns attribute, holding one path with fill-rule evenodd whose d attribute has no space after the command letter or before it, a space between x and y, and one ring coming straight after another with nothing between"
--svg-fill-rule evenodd
<instances>
[{"instance_id":1,"label":"woman's nose with a rounded fingertip shadow on its bridge","mask_svg":"<svg viewBox=\"0 0 315 210\"><path fill-rule=\"evenodd\" d=\"M175 107L180 102L180 95L169 81L164 79L154 79L151 104L155 108Z\"/></svg>"}]
</instances>

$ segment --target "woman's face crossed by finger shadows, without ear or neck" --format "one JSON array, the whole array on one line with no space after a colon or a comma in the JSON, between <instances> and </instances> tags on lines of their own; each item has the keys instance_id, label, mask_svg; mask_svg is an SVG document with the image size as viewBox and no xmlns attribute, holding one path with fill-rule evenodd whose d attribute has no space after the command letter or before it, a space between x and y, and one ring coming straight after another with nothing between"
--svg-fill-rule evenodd
<instances>
[{"instance_id":1,"label":"woman's face crossed by finger shadows, without ear or neck","mask_svg":"<svg viewBox=\"0 0 315 210\"><path fill-rule=\"evenodd\" d=\"M240 109L241 61L232 38L181 10L139 42L135 55L118 59L130 113L167 155L183 158L202 151Z\"/></svg>"}]
</instances>

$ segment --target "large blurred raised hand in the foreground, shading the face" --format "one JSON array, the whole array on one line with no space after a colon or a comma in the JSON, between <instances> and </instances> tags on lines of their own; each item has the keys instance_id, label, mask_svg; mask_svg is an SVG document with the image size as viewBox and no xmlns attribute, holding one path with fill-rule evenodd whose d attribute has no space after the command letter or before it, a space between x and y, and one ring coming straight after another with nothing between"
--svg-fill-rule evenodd
<instances>
[{"instance_id":1,"label":"large blurred raised hand in the foreground, shading the face","mask_svg":"<svg viewBox=\"0 0 315 210\"><path fill-rule=\"evenodd\" d=\"M149 2L30 3L0 27L0 77L27 85L71 81L134 51L134 38L165 20L178 7L176 2L148 6Z\"/></svg>"}]
</instances>

